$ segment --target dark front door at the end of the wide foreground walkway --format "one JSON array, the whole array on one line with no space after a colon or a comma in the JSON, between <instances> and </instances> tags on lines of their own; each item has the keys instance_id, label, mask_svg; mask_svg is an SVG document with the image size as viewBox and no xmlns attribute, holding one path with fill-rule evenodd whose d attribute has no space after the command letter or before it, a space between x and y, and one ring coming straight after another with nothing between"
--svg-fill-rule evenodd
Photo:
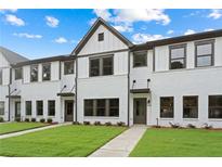
<instances>
[{"instance_id":1,"label":"dark front door at the end of the wide foreground walkway","mask_svg":"<svg viewBox=\"0 0 222 167\"><path fill-rule=\"evenodd\" d=\"M133 124L146 124L146 98L133 100Z\"/></svg>"}]
</instances>

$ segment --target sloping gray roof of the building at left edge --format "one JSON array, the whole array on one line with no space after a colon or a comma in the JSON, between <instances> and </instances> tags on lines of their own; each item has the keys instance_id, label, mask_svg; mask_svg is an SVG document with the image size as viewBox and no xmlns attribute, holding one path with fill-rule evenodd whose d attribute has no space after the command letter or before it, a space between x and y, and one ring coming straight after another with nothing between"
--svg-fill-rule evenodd
<instances>
[{"instance_id":1,"label":"sloping gray roof of the building at left edge","mask_svg":"<svg viewBox=\"0 0 222 167\"><path fill-rule=\"evenodd\" d=\"M6 59L6 61L10 64L16 64L16 63L21 63L21 62L25 62L28 61L27 57L22 56L6 48L0 47L0 52L2 53L2 55Z\"/></svg>"}]
</instances>

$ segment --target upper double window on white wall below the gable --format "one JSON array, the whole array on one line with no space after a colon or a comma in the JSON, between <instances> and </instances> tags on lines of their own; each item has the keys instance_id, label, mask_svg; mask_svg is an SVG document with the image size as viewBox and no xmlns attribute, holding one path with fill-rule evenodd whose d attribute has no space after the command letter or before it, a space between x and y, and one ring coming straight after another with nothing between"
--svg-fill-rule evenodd
<instances>
[{"instance_id":1,"label":"upper double window on white wall below the gable","mask_svg":"<svg viewBox=\"0 0 222 167\"><path fill-rule=\"evenodd\" d=\"M90 59L90 77L114 74L114 56Z\"/></svg>"}]
</instances>

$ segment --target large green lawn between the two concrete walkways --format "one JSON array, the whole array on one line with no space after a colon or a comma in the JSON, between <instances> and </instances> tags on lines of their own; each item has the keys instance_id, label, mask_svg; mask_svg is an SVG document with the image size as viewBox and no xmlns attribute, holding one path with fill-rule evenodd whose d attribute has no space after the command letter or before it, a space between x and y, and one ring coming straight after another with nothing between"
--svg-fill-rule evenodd
<instances>
[{"instance_id":1,"label":"large green lawn between the two concrete walkways","mask_svg":"<svg viewBox=\"0 0 222 167\"><path fill-rule=\"evenodd\" d=\"M123 127L63 126L0 140L0 156L88 156Z\"/></svg>"}]
</instances>

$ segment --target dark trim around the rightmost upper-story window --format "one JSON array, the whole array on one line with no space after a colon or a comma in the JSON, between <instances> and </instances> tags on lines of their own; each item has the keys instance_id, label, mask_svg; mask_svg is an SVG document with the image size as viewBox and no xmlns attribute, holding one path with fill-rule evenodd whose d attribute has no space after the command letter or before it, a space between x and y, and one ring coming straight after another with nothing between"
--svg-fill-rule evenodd
<instances>
[{"instance_id":1,"label":"dark trim around the rightmost upper-story window","mask_svg":"<svg viewBox=\"0 0 222 167\"><path fill-rule=\"evenodd\" d=\"M201 41L196 41L194 42L195 46L195 67L208 67L208 66L213 66L214 65L214 39L210 40L201 40ZM204 44L211 44L211 54L204 54L204 55L197 55L197 47L198 46L204 46ZM211 64L210 65L204 65L204 66L197 66L197 57L203 57L203 56L211 56Z\"/></svg>"}]
</instances>

